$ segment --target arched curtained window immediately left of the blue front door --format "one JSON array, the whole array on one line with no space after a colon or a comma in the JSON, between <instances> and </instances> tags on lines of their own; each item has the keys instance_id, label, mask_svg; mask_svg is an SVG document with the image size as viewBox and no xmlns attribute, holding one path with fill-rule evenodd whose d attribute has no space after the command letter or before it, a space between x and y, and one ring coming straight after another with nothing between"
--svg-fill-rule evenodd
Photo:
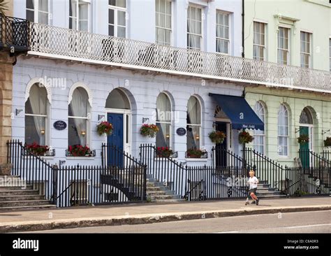
<instances>
[{"instance_id":1,"label":"arched curtained window immediately left of the blue front door","mask_svg":"<svg viewBox=\"0 0 331 256\"><path fill-rule=\"evenodd\" d=\"M89 95L83 87L73 91L68 108L68 145L87 145L90 119Z\"/></svg>"}]
</instances>

